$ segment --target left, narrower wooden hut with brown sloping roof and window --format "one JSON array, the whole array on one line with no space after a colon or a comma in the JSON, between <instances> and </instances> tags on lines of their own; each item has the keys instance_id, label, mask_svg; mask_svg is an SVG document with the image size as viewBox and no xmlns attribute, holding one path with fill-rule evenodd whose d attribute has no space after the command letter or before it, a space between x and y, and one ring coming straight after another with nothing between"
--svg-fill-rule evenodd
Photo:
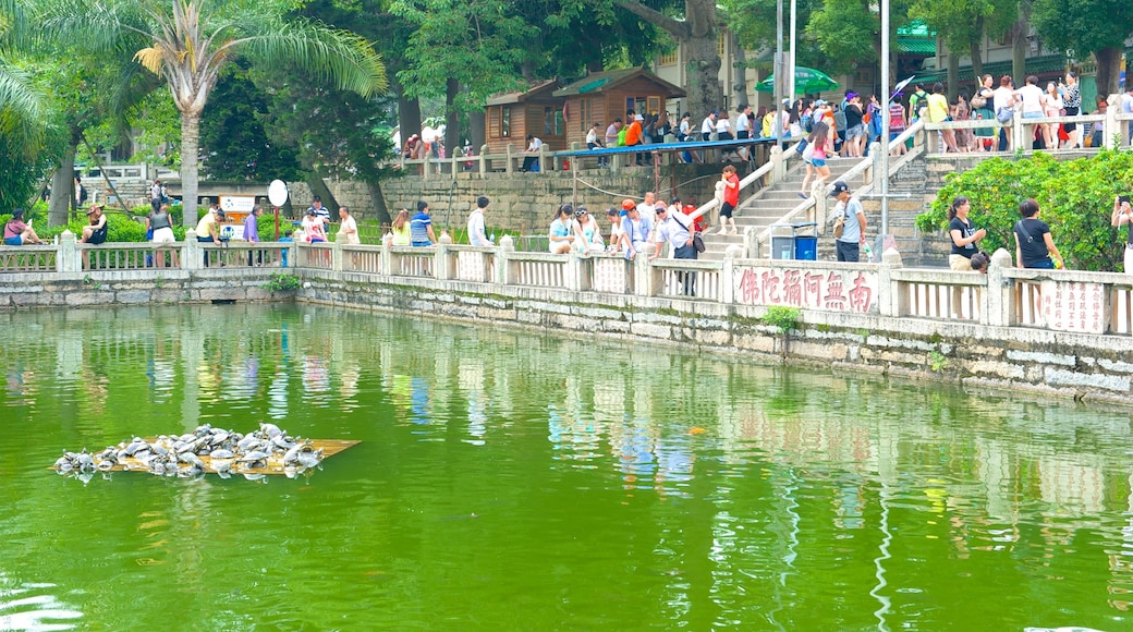
<instances>
[{"instance_id":1,"label":"left, narrower wooden hut with brown sloping roof and window","mask_svg":"<svg viewBox=\"0 0 1133 632\"><path fill-rule=\"evenodd\" d=\"M563 103L566 100L553 95L559 83L550 79L526 92L505 92L488 99L485 117L488 153L502 154L508 145L522 152L528 134L540 138L548 151L565 150Z\"/></svg>"}]
</instances>

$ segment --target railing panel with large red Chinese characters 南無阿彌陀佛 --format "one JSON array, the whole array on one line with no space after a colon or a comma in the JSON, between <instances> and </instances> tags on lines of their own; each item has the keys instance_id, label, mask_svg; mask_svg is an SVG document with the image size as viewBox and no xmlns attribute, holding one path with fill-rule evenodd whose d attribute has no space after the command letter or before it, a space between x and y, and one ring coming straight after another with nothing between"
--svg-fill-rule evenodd
<instances>
[{"instance_id":1,"label":"railing panel with large red Chinese characters \u5357\u7121\u963f\u5f4c\u9640\u4f5b","mask_svg":"<svg viewBox=\"0 0 1133 632\"><path fill-rule=\"evenodd\" d=\"M877 274L860 271L744 268L736 281L743 305L786 305L829 311L867 313L877 297Z\"/></svg>"}]
</instances>

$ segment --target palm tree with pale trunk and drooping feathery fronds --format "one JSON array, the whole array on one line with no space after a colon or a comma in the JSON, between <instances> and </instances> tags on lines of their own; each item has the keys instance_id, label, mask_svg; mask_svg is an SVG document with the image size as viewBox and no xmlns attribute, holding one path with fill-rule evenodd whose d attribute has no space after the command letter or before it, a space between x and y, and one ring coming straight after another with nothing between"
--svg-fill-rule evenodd
<instances>
[{"instance_id":1,"label":"palm tree with pale trunk and drooping feathery fronds","mask_svg":"<svg viewBox=\"0 0 1133 632\"><path fill-rule=\"evenodd\" d=\"M0 0L11 1L11 0ZM361 37L286 16L283 2L262 0L41 0L41 24L58 41L95 50L139 42L135 59L161 76L181 113L184 221L197 221L201 112L224 65L237 54L254 63L293 65L340 89L369 96L385 89L385 70Z\"/></svg>"}]
</instances>

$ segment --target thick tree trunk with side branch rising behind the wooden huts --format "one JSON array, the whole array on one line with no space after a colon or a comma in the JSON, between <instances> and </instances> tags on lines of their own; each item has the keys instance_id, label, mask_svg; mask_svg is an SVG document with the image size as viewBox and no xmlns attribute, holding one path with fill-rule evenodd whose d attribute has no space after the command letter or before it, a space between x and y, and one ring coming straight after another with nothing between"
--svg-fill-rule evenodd
<instances>
[{"instance_id":1,"label":"thick tree trunk with side branch rising behind the wooden huts","mask_svg":"<svg viewBox=\"0 0 1133 632\"><path fill-rule=\"evenodd\" d=\"M684 45L688 53L688 111L704 116L719 108L724 91L719 85L716 0L684 0L683 19L663 12L664 9L672 10L671 5L665 2L661 3L661 9L634 0L614 0L614 5L668 32L679 44Z\"/></svg>"}]
</instances>

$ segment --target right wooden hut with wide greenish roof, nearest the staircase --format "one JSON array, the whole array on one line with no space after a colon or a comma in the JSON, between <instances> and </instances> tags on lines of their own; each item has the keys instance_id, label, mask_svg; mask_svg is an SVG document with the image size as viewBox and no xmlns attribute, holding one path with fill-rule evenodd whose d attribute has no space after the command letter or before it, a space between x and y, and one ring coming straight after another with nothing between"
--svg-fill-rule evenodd
<instances>
[{"instance_id":1,"label":"right wooden hut with wide greenish roof, nearest the staircase","mask_svg":"<svg viewBox=\"0 0 1133 632\"><path fill-rule=\"evenodd\" d=\"M562 111L565 117L565 145L578 143L586 147L586 133L590 123L602 123L598 138L605 137L606 127L615 117L625 121L627 110L639 114L659 113L670 99L682 99L685 92L644 68L623 68L591 72L590 75L557 89L554 96L564 99ZM672 112L670 120L675 125L680 114ZM628 122L628 121L625 121Z\"/></svg>"}]
</instances>

